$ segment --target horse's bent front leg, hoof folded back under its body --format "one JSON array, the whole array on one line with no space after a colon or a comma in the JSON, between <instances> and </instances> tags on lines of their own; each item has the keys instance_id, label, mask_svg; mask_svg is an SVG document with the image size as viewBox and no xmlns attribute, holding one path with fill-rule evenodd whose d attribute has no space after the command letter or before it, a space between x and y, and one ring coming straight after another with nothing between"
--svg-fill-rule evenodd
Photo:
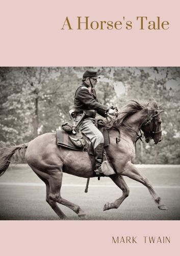
<instances>
[{"instance_id":1,"label":"horse's bent front leg, hoof folded back under its body","mask_svg":"<svg viewBox=\"0 0 180 256\"><path fill-rule=\"evenodd\" d=\"M110 178L122 190L122 196L115 200L113 203L106 203L103 210L109 210L113 208L117 209L124 201L124 199L130 194L130 189L128 188L127 184L124 181L124 178L121 175L117 174Z\"/></svg>"}]
</instances>

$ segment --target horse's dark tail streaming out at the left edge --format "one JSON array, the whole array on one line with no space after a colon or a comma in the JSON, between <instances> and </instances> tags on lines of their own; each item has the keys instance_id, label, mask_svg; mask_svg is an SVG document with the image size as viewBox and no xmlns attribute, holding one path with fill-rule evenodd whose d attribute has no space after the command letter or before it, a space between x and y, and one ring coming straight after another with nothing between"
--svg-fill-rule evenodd
<instances>
[{"instance_id":1,"label":"horse's dark tail streaming out at the left edge","mask_svg":"<svg viewBox=\"0 0 180 256\"><path fill-rule=\"evenodd\" d=\"M7 147L4 144L0 146L0 176L2 176L9 167L11 157L14 157L13 163L18 163L23 158L23 152L28 147L28 143Z\"/></svg>"}]
</instances>

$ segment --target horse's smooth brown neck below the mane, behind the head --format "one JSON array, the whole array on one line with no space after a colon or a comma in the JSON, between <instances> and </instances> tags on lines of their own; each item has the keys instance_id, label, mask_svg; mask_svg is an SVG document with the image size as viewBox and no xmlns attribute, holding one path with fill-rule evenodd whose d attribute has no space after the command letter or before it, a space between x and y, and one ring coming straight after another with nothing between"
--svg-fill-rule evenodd
<instances>
[{"instance_id":1,"label":"horse's smooth brown neck below the mane, behind the head","mask_svg":"<svg viewBox=\"0 0 180 256\"><path fill-rule=\"evenodd\" d=\"M128 129L126 126L124 126L123 128L124 132L129 137L131 137L133 141L136 140L137 134L139 133L139 130L146 118L147 118L146 112L136 112L135 114L124 119L123 123L128 127L130 127L130 129Z\"/></svg>"}]
</instances>

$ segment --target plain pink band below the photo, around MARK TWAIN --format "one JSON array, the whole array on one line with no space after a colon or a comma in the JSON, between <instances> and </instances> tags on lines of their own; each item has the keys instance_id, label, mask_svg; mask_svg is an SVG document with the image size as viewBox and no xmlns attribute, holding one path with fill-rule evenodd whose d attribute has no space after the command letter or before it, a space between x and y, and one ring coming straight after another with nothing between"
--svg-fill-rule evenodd
<instances>
[{"instance_id":1,"label":"plain pink band below the photo, around MARK TWAIN","mask_svg":"<svg viewBox=\"0 0 180 256\"><path fill-rule=\"evenodd\" d=\"M2 255L171 255L179 251L176 221L1 222ZM114 244L112 236L137 236ZM170 244L144 244L143 236L170 236ZM176 252L175 252L176 250Z\"/></svg>"}]
</instances>

